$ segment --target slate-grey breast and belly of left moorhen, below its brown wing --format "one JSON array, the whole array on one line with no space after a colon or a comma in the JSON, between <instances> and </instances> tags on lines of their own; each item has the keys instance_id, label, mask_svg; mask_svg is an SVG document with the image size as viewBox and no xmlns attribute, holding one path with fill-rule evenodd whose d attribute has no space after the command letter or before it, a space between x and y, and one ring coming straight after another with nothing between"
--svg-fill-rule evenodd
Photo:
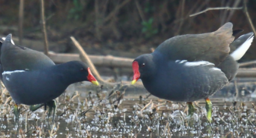
<instances>
[{"instance_id":1,"label":"slate-grey breast and belly of left moorhen, below its brown wing","mask_svg":"<svg viewBox=\"0 0 256 138\"><path fill-rule=\"evenodd\" d=\"M3 74L3 83L17 104L46 103L60 96L70 84L84 81L88 74L70 74L74 64L82 63L71 61L40 70L6 73Z\"/></svg>"}]
</instances>

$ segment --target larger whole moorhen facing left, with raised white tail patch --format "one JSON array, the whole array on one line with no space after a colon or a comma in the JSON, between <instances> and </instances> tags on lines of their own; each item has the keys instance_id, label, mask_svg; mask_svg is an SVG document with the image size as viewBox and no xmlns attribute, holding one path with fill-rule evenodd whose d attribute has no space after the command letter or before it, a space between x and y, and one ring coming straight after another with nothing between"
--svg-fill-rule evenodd
<instances>
[{"instance_id":1,"label":"larger whole moorhen facing left, with raised white tail patch","mask_svg":"<svg viewBox=\"0 0 256 138\"><path fill-rule=\"evenodd\" d=\"M250 32L234 40L234 35L241 31L232 31L232 27L228 22L214 32L180 35L164 41L151 54L138 56L132 62L132 84L141 79L152 95L187 102L189 115L194 112L192 102L204 98L211 121L212 103L208 97L236 76L236 61L254 38Z\"/></svg>"}]
</instances>

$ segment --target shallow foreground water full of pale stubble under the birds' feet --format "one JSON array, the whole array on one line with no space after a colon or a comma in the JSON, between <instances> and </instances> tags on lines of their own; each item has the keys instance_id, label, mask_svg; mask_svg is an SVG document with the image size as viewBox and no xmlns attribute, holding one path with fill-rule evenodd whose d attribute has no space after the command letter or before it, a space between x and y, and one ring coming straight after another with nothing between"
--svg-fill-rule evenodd
<instances>
[{"instance_id":1,"label":"shallow foreground water full of pale stubble under the birds' feet","mask_svg":"<svg viewBox=\"0 0 256 138\"><path fill-rule=\"evenodd\" d=\"M109 96L110 90L84 92L75 84L56 99L53 122L43 108L30 112L23 105L20 119L14 121L13 101L0 105L0 138L256 137L255 90L250 91L235 99L234 92L212 96L214 120L210 124L204 100L196 101L196 112L188 118L186 103L166 102L154 96L140 99L145 92L125 92L124 96L122 92Z\"/></svg>"}]
</instances>

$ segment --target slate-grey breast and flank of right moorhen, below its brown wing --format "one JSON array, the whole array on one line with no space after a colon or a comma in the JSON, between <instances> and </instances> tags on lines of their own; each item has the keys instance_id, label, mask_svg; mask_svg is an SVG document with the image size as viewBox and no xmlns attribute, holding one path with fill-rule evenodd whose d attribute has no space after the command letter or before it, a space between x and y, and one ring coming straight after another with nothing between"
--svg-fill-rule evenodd
<instances>
[{"instance_id":1,"label":"slate-grey breast and flank of right moorhen, below its brown wing","mask_svg":"<svg viewBox=\"0 0 256 138\"><path fill-rule=\"evenodd\" d=\"M156 57L154 54L156 52L149 56ZM154 66L157 67L154 69L161 71L153 69L152 74L146 76L142 73L141 80L146 90L159 98L193 102L207 98L228 83L225 74L210 62L200 66L187 66L191 62L165 61L163 58L161 61L158 58L152 60L155 60Z\"/></svg>"}]
</instances>

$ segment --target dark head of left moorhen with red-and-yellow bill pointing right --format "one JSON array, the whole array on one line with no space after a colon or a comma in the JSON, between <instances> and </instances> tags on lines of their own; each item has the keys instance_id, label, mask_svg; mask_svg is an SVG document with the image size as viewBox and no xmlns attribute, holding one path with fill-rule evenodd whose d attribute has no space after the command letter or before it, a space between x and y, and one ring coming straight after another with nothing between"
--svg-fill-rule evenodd
<instances>
[{"instance_id":1,"label":"dark head of left moorhen with red-and-yellow bill pointing right","mask_svg":"<svg viewBox=\"0 0 256 138\"><path fill-rule=\"evenodd\" d=\"M98 81L92 75L90 68L80 61L70 61L57 65L58 71L63 72L67 76L69 83L89 81L95 85L99 85Z\"/></svg>"}]
</instances>

